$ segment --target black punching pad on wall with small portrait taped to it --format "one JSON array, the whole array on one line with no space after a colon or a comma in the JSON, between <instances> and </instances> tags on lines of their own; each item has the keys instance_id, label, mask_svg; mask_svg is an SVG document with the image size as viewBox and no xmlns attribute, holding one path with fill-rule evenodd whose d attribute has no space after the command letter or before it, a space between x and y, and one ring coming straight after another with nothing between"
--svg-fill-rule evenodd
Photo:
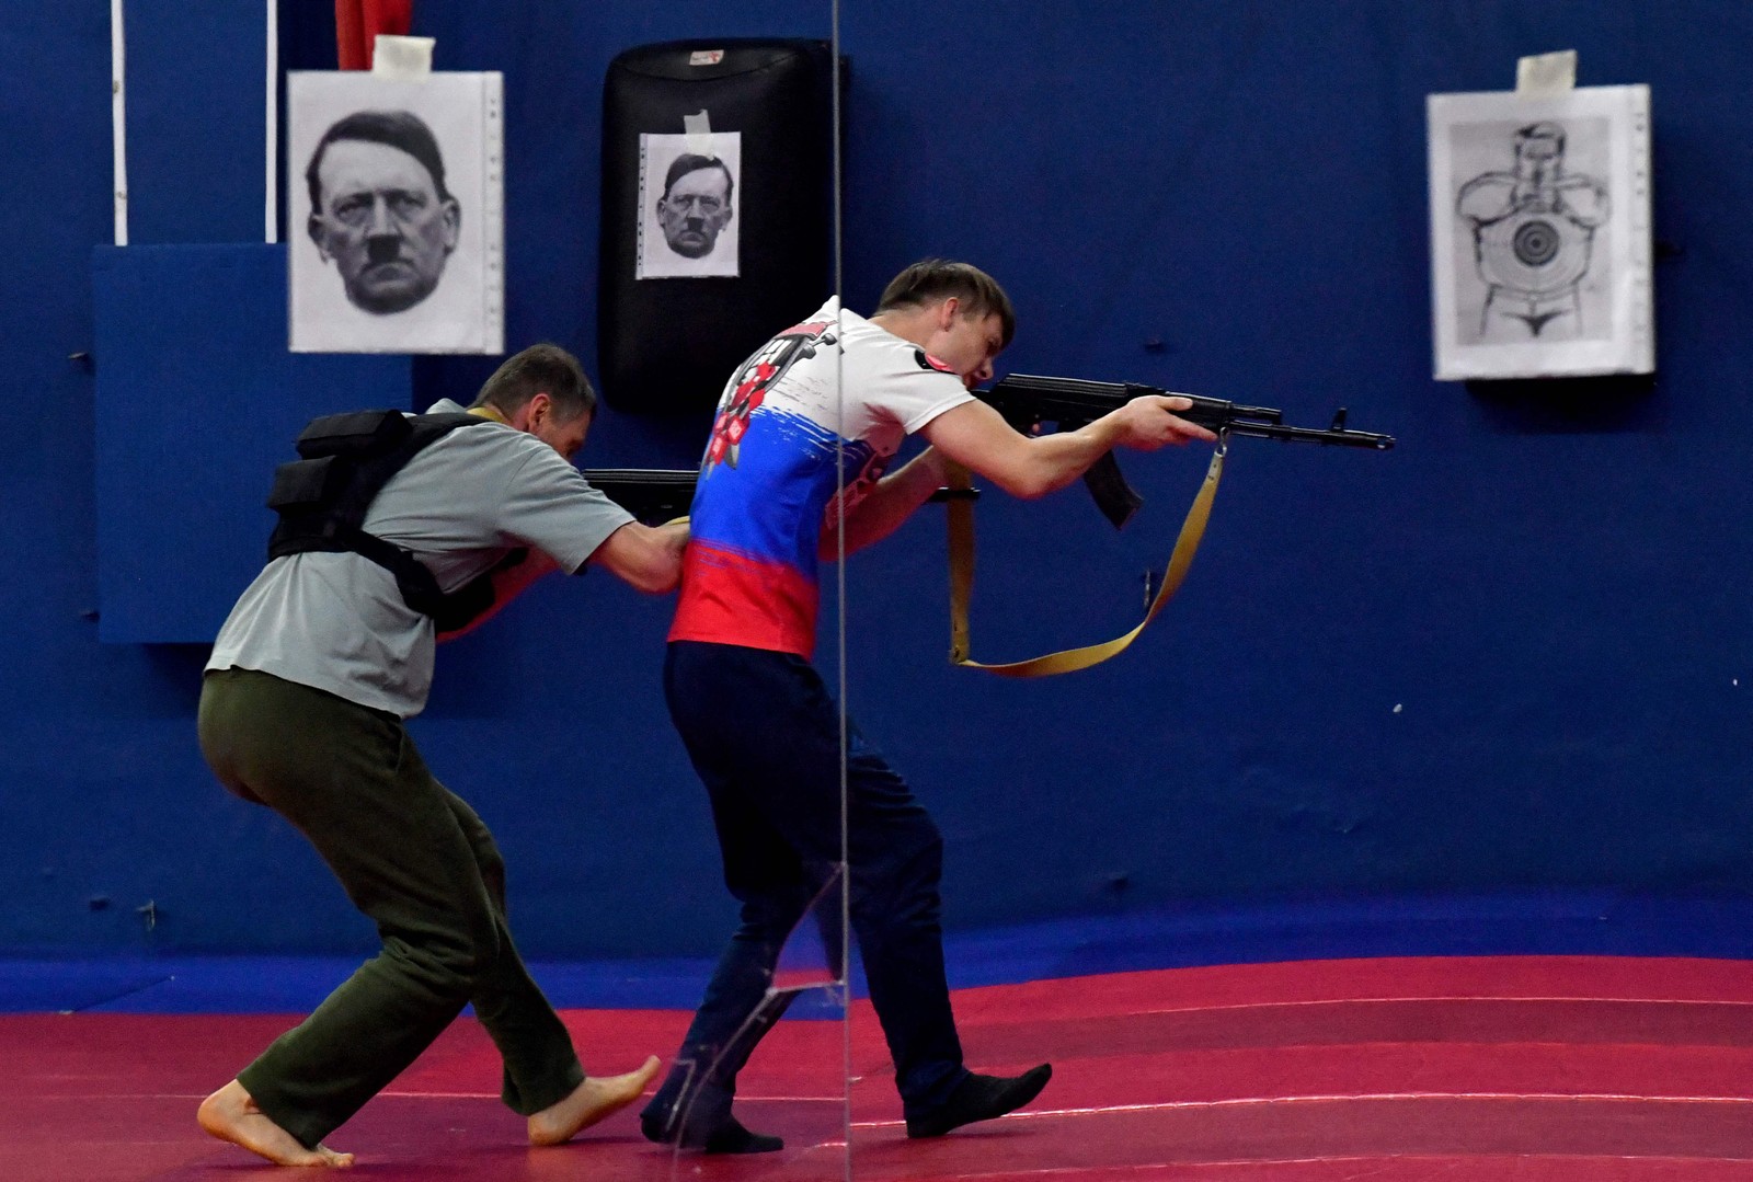
<instances>
[{"instance_id":1,"label":"black punching pad on wall with small portrait taped to it","mask_svg":"<svg viewBox=\"0 0 1753 1182\"><path fill-rule=\"evenodd\" d=\"M761 342L833 293L833 51L685 40L603 86L598 370L643 414L708 412Z\"/></svg>"}]
</instances>

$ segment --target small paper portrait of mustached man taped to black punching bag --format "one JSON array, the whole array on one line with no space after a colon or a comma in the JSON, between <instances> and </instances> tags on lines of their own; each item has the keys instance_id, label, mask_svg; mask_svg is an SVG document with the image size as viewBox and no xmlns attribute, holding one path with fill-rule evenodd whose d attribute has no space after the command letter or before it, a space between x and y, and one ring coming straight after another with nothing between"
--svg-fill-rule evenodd
<instances>
[{"instance_id":1,"label":"small paper portrait of mustached man taped to black punching bag","mask_svg":"<svg viewBox=\"0 0 1753 1182\"><path fill-rule=\"evenodd\" d=\"M735 279L740 177L740 132L640 135L635 279Z\"/></svg>"}]
</instances>

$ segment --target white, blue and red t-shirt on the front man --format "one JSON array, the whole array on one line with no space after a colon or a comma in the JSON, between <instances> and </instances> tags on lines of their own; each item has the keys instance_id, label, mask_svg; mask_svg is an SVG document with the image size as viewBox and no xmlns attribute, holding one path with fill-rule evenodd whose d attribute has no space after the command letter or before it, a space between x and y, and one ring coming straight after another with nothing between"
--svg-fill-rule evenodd
<instances>
[{"instance_id":1,"label":"white, blue and red t-shirt on the front man","mask_svg":"<svg viewBox=\"0 0 1753 1182\"><path fill-rule=\"evenodd\" d=\"M906 435L969 400L948 367L838 300L757 349L719 400L670 638L810 656L836 493L850 512Z\"/></svg>"}]
</instances>

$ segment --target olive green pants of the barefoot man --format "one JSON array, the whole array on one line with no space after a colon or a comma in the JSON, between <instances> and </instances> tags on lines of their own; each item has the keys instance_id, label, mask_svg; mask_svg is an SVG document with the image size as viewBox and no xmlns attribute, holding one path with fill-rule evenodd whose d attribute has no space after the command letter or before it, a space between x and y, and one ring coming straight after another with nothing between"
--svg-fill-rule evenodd
<instances>
[{"instance_id":1,"label":"olive green pants of the barefoot man","mask_svg":"<svg viewBox=\"0 0 1753 1182\"><path fill-rule=\"evenodd\" d=\"M382 1091L473 1003L533 1114L584 1072L505 926L505 861L480 817L421 761L401 719L254 670L207 673L202 752L219 782L310 838L382 952L238 1080L305 1147Z\"/></svg>"}]
</instances>

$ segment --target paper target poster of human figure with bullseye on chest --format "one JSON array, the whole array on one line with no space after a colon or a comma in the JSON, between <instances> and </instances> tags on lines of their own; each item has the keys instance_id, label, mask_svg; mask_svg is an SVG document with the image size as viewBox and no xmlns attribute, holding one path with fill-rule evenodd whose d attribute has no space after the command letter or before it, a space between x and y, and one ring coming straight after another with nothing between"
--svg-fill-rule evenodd
<instances>
[{"instance_id":1,"label":"paper target poster of human figure with bullseye on chest","mask_svg":"<svg viewBox=\"0 0 1753 1182\"><path fill-rule=\"evenodd\" d=\"M1437 381L1653 372L1650 88L1427 114Z\"/></svg>"}]
</instances>

